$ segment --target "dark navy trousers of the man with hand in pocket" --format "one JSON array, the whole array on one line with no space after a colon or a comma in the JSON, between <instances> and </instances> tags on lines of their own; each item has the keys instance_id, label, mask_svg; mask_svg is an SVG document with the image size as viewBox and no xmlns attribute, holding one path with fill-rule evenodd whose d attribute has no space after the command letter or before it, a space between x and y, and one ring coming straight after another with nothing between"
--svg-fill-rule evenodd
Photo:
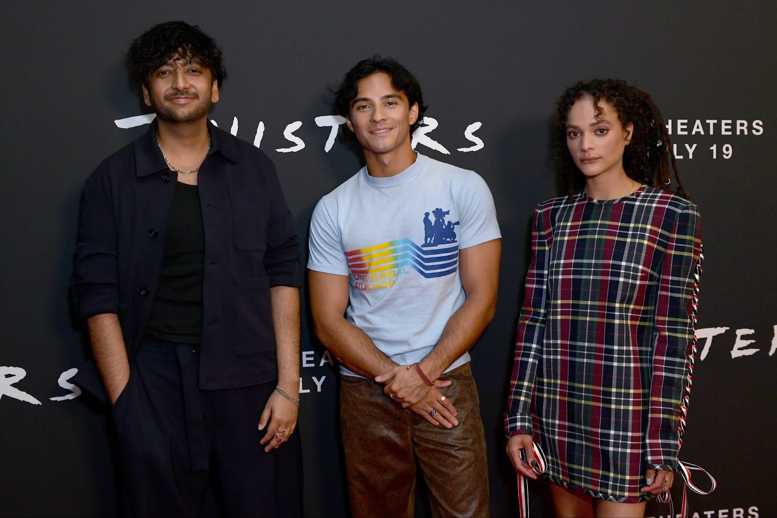
<instances>
[{"instance_id":1,"label":"dark navy trousers of the man with hand in pocket","mask_svg":"<svg viewBox=\"0 0 777 518\"><path fill-rule=\"evenodd\" d=\"M202 391L197 346L145 340L111 410L124 515L199 516L205 490L225 516L301 516L296 431L264 452L256 428L275 383Z\"/></svg>"}]
</instances>

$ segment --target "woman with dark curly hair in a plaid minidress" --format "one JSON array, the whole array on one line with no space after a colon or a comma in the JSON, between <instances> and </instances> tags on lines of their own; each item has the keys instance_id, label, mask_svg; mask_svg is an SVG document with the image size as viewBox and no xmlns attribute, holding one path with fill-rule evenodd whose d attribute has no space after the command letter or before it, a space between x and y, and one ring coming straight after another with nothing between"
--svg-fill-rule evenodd
<instances>
[{"instance_id":1,"label":"woman with dark curly hair in a plaid minidress","mask_svg":"<svg viewBox=\"0 0 777 518\"><path fill-rule=\"evenodd\" d=\"M559 516L643 516L678 462L699 212L645 92L579 82L558 114L567 195L535 210L507 454L536 478L542 447Z\"/></svg>"}]
</instances>

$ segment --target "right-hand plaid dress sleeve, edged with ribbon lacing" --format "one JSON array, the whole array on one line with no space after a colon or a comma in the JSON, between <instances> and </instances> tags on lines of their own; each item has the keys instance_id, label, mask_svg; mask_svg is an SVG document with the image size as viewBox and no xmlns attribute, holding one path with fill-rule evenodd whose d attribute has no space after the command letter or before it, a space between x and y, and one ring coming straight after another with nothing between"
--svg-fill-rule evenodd
<instances>
[{"instance_id":1,"label":"right-hand plaid dress sleeve, edged with ribbon lacing","mask_svg":"<svg viewBox=\"0 0 777 518\"><path fill-rule=\"evenodd\" d=\"M677 465L679 408L694 334L694 266L700 252L699 212L689 204L674 222L661 266L646 434L647 468L674 470Z\"/></svg>"}]
</instances>

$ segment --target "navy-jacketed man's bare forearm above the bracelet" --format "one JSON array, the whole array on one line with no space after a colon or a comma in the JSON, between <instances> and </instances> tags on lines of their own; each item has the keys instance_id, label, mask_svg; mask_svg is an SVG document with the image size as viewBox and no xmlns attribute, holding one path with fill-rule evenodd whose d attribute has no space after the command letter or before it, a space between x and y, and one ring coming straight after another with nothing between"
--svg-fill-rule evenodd
<instances>
[{"instance_id":1,"label":"navy-jacketed man's bare forearm above the bracelet","mask_svg":"<svg viewBox=\"0 0 777 518\"><path fill-rule=\"evenodd\" d=\"M299 289L289 286L270 288L275 329L278 386L289 395L299 395Z\"/></svg>"}]
</instances>

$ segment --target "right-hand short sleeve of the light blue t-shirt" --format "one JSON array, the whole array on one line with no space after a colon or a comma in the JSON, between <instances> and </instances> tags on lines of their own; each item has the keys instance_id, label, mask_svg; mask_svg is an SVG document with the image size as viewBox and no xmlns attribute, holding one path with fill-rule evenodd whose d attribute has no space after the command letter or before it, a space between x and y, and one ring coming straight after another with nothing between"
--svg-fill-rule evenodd
<instances>
[{"instance_id":1,"label":"right-hand short sleeve of the light blue t-shirt","mask_svg":"<svg viewBox=\"0 0 777 518\"><path fill-rule=\"evenodd\" d=\"M497 221L497 209L486 181L470 172L458 192L461 249L502 237Z\"/></svg>"}]
</instances>

